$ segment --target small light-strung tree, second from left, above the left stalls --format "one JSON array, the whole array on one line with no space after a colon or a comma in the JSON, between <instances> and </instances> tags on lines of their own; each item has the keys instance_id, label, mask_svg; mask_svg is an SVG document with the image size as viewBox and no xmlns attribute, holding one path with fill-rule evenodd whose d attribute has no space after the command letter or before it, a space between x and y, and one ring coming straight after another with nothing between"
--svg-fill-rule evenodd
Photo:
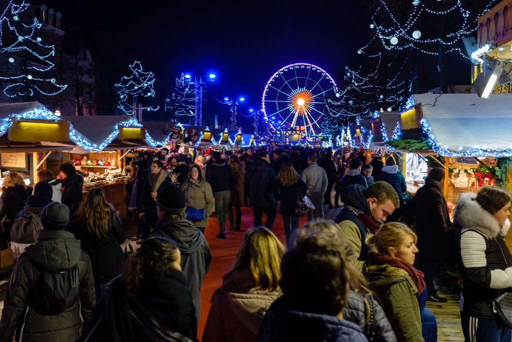
<instances>
[{"instance_id":1,"label":"small light-strung tree, second from left, above the left stalls","mask_svg":"<svg viewBox=\"0 0 512 342\"><path fill-rule=\"evenodd\" d=\"M114 86L119 90L117 108L128 115L134 115L139 108L139 100L142 97L155 96L155 75L151 71L143 71L142 64L135 61L130 65L132 74L121 77L121 81ZM144 106L142 110L157 111L160 107Z\"/></svg>"}]
</instances>

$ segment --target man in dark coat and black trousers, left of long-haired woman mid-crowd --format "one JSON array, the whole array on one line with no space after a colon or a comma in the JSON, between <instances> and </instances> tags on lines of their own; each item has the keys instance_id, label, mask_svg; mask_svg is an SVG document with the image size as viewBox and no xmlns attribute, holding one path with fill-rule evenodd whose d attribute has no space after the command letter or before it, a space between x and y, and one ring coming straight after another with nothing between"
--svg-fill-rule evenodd
<instances>
[{"instance_id":1,"label":"man in dark coat and black trousers, left of long-haired woman mid-crowd","mask_svg":"<svg viewBox=\"0 0 512 342\"><path fill-rule=\"evenodd\" d=\"M275 216L278 213L278 203L275 191L278 180L270 167L267 152L260 152L254 159L249 170L245 172L245 185L249 190L249 199L254 215L254 227L262 226L263 213L267 216L265 227L272 230Z\"/></svg>"}]
</instances>

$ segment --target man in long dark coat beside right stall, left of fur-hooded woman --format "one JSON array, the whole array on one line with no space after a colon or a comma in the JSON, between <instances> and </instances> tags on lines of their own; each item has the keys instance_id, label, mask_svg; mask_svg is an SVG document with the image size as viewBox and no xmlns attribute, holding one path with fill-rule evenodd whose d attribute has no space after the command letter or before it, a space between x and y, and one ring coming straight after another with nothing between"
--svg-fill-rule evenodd
<instances>
[{"instance_id":1,"label":"man in long dark coat beside right stall, left of fur-hooded woman","mask_svg":"<svg viewBox=\"0 0 512 342\"><path fill-rule=\"evenodd\" d=\"M439 263L444 258L443 243L448 228L452 225L448 206L443 196L442 182L444 170L433 168L425 179L425 185L415 195L414 209L415 231L418 234L419 253L416 268L425 274L427 300L444 303L446 298L439 297L434 288L434 277Z\"/></svg>"}]
</instances>

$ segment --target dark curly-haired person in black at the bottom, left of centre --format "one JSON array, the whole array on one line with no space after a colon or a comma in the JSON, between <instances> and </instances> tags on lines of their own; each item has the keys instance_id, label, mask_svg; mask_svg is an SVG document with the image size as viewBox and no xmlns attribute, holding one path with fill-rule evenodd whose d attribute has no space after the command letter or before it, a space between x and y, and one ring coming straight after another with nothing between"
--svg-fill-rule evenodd
<instances>
[{"instance_id":1,"label":"dark curly-haired person in black at the bottom, left of centre","mask_svg":"<svg viewBox=\"0 0 512 342\"><path fill-rule=\"evenodd\" d=\"M175 241L146 239L94 308L81 340L196 341L194 303L180 261Z\"/></svg>"}]
</instances>

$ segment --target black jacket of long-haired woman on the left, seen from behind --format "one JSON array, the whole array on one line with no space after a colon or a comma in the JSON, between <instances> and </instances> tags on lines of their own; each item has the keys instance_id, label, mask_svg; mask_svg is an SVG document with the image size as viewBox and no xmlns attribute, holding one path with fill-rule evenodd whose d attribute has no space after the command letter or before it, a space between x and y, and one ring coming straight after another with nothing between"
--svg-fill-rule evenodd
<instances>
[{"instance_id":1,"label":"black jacket of long-haired woman on the left, seen from behind","mask_svg":"<svg viewBox=\"0 0 512 342\"><path fill-rule=\"evenodd\" d=\"M68 231L75 234L80 240L80 247L91 258L96 284L105 283L121 274L125 257L120 244L126 240L126 236L123 224L114 212L110 213L110 227L106 236L100 238L91 233L87 224L76 216Z\"/></svg>"}]
</instances>

